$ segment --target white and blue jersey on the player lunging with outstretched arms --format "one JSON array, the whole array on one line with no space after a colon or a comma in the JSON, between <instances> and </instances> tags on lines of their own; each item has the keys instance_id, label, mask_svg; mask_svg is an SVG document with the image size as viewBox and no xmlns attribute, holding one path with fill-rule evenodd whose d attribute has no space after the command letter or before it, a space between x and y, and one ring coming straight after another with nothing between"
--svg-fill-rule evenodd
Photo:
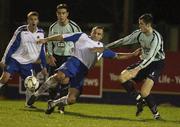
<instances>
[{"instance_id":1,"label":"white and blue jersey on the player lunging with outstretched arms","mask_svg":"<svg viewBox=\"0 0 180 127\"><path fill-rule=\"evenodd\" d=\"M90 51L90 48L103 47L103 43L92 40L85 33L63 34L64 41L75 43L72 56L78 58L87 68L91 68L97 61L98 54Z\"/></svg>"}]
</instances>

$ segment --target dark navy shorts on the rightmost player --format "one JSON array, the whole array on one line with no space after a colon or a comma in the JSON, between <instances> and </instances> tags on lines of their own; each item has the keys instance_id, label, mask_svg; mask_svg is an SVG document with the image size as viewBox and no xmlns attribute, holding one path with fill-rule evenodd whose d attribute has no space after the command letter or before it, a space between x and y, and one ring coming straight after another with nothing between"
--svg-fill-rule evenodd
<instances>
[{"instance_id":1,"label":"dark navy shorts on the rightmost player","mask_svg":"<svg viewBox=\"0 0 180 127\"><path fill-rule=\"evenodd\" d=\"M127 70L133 69L137 67L142 61L139 61L135 64L130 65ZM132 80L134 81L143 81L146 78L152 79L154 82L158 80L159 75L164 68L165 61L164 60L159 60L159 61L154 61L150 63L147 67L141 69L139 73L136 75L135 78Z\"/></svg>"}]
</instances>

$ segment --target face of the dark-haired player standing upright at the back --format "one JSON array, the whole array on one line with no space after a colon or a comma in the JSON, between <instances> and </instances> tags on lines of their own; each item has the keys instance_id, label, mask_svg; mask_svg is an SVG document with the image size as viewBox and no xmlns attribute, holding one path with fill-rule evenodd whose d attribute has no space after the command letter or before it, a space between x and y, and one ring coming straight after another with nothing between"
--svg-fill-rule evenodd
<instances>
[{"instance_id":1,"label":"face of the dark-haired player standing upright at the back","mask_svg":"<svg viewBox=\"0 0 180 127\"><path fill-rule=\"evenodd\" d=\"M62 8L62 9L58 9L56 12L57 15L57 19L59 22L64 23L66 22L69 12L67 12L66 9Z\"/></svg>"}]
</instances>

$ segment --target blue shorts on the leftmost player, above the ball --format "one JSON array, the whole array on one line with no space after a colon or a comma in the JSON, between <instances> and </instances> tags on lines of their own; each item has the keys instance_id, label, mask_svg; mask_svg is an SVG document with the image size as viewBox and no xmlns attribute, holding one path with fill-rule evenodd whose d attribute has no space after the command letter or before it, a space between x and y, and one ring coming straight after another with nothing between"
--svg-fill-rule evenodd
<instances>
[{"instance_id":1,"label":"blue shorts on the leftmost player, above the ball","mask_svg":"<svg viewBox=\"0 0 180 127\"><path fill-rule=\"evenodd\" d=\"M20 64L15 59L10 58L4 71L10 74L19 73L21 75L21 78L25 79L27 76L32 75L32 69L32 64Z\"/></svg>"}]
</instances>

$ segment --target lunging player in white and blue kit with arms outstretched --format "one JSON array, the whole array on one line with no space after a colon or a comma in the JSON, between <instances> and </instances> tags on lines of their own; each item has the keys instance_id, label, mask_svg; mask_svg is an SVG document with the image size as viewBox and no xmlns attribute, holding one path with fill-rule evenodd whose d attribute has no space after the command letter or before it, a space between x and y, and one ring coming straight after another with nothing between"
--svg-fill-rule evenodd
<instances>
[{"instance_id":1,"label":"lunging player in white and blue kit with arms outstretched","mask_svg":"<svg viewBox=\"0 0 180 127\"><path fill-rule=\"evenodd\" d=\"M70 83L68 95L59 98L54 101L48 102L48 109L46 114L53 112L55 106L65 106L74 104L81 94L83 88L83 80L88 73L88 70L93 67L96 63L99 55L91 51L94 47L103 47L103 43L100 40L103 37L103 28L100 26L94 27L91 31L90 36L85 33L73 33L54 35L45 39L40 39L39 43L46 43L52 40L59 41L72 41L75 43L73 55L68 59L62 66L57 69L57 73L49 77L46 82L32 95L28 101L28 104L33 104L38 96L40 96L48 87L57 85L58 82L61 84ZM138 55L140 50L134 53L118 54L111 50L105 50L103 57L107 58L118 58L125 59L130 58L134 55Z\"/></svg>"}]
</instances>

